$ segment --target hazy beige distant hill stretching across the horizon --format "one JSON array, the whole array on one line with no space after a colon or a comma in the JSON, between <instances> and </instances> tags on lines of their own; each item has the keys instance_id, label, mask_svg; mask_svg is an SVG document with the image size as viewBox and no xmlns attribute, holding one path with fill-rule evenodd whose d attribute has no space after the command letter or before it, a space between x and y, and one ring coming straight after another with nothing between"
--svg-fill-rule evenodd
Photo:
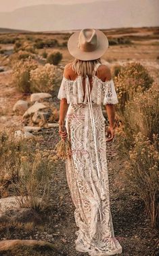
<instances>
[{"instance_id":1,"label":"hazy beige distant hill stretching across the horizon","mask_svg":"<svg viewBox=\"0 0 159 256\"><path fill-rule=\"evenodd\" d=\"M0 27L26 31L65 31L158 26L158 0L95 1L35 5L0 13Z\"/></svg>"}]
</instances>

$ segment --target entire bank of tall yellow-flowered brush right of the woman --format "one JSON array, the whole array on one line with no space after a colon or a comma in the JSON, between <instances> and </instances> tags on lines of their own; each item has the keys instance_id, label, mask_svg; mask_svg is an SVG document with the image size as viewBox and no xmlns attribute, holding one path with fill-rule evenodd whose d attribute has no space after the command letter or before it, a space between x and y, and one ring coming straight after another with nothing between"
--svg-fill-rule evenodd
<instances>
[{"instance_id":1,"label":"entire bank of tall yellow-flowered brush right of the woman","mask_svg":"<svg viewBox=\"0 0 159 256\"><path fill-rule=\"evenodd\" d=\"M138 63L119 71L116 137L120 154L127 159L123 178L145 203L152 227L158 227L159 90L152 81Z\"/></svg>"}]
</instances>

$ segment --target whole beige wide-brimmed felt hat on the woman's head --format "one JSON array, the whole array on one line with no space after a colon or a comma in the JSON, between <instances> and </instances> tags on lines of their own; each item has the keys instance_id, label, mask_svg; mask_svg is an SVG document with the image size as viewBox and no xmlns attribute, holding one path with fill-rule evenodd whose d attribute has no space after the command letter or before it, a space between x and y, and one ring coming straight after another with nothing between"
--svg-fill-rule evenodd
<instances>
[{"instance_id":1,"label":"whole beige wide-brimmed felt hat on the woman's head","mask_svg":"<svg viewBox=\"0 0 159 256\"><path fill-rule=\"evenodd\" d=\"M82 29L68 39L68 51L78 60L95 60L108 50L108 38L99 29Z\"/></svg>"}]
</instances>

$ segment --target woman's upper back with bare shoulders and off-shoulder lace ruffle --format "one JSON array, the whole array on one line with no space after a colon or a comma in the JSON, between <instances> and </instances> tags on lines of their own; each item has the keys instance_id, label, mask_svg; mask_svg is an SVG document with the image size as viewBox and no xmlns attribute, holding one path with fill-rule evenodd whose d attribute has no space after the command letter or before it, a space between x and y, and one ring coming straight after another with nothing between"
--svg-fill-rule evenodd
<instances>
[{"instance_id":1,"label":"woman's upper back with bare shoulders and off-shoulder lace ruffle","mask_svg":"<svg viewBox=\"0 0 159 256\"><path fill-rule=\"evenodd\" d=\"M68 104L79 104L87 103L87 100L89 100L87 96L90 94L91 102L97 105L118 103L110 68L101 64L101 62L97 62L92 77L86 75L86 78L84 78L74 72L72 63L68 63L64 68L58 98L66 98Z\"/></svg>"}]
</instances>

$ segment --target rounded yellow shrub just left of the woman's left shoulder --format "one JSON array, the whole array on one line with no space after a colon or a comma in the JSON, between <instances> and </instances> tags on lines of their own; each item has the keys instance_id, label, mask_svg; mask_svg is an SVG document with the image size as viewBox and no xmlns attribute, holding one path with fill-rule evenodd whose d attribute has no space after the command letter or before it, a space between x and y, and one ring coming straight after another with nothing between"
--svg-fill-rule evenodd
<instances>
[{"instance_id":1,"label":"rounded yellow shrub just left of the woman's left shoulder","mask_svg":"<svg viewBox=\"0 0 159 256\"><path fill-rule=\"evenodd\" d=\"M30 83L32 92L51 92L55 84L58 84L61 73L57 67L49 63L30 71Z\"/></svg>"}]
</instances>

